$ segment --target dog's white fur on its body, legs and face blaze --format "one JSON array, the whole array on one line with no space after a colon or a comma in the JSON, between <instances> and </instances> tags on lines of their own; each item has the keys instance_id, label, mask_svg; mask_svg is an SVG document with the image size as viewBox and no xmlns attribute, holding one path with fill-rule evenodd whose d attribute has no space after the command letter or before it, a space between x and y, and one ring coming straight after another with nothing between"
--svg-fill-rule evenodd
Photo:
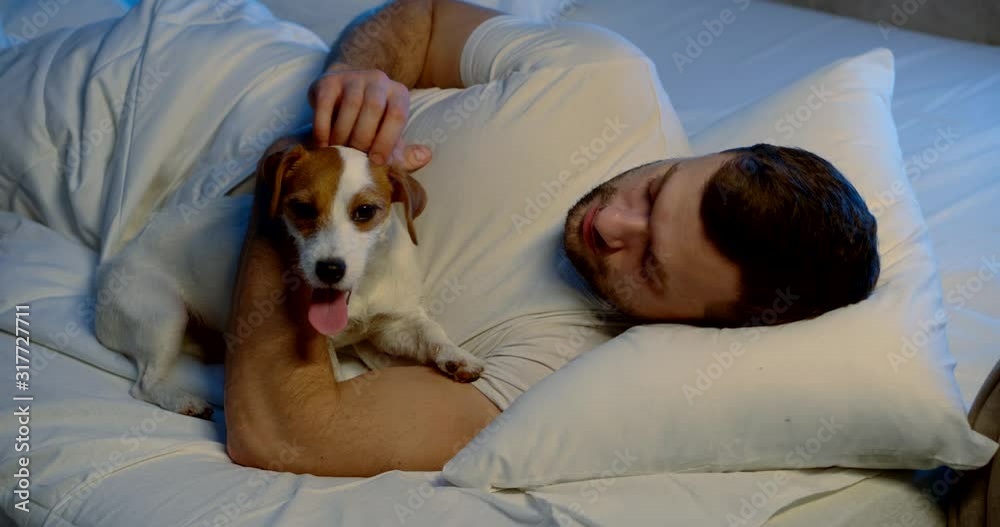
<instances>
[{"instance_id":1,"label":"dog's white fur on its body, legs and face blaze","mask_svg":"<svg viewBox=\"0 0 1000 527\"><path fill-rule=\"evenodd\" d=\"M434 362L463 380L478 377L483 361L455 346L421 305L415 246L402 220L389 211L380 225L368 231L350 221L352 197L372 185L367 156L346 147L332 148L339 150L344 163L331 210L325 211L330 221L306 237L285 218L299 267L282 275L282 281L291 284L304 278L313 288L324 287L316 276L316 262L333 258L346 262L338 289L351 291L348 325L330 341L335 365L335 349L368 339L386 354ZM97 290L117 293L98 306L96 334L104 345L135 360L138 378L130 392L133 397L187 415L211 415L207 402L169 385L165 378L182 348L197 351L185 346L189 322L220 333L226 330L252 205L252 196L241 196L216 199L199 211L181 207L159 213L99 268ZM110 287L120 276L129 277L128 286ZM266 311L262 306L261 315ZM252 331L251 322L246 324Z\"/></svg>"}]
</instances>

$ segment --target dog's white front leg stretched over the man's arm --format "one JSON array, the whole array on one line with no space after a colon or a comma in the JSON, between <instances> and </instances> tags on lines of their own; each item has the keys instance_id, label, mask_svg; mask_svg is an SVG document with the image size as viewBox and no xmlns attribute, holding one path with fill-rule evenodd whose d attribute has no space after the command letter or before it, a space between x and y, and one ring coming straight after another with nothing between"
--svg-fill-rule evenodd
<instances>
[{"instance_id":1,"label":"dog's white front leg stretched over the man's arm","mask_svg":"<svg viewBox=\"0 0 1000 527\"><path fill-rule=\"evenodd\" d=\"M380 315L370 337L379 351L427 364L433 362L458 382L472 382L485 362L456 346L444 329L422 309L406 315Z\"/></svg>"}]
</instances>

